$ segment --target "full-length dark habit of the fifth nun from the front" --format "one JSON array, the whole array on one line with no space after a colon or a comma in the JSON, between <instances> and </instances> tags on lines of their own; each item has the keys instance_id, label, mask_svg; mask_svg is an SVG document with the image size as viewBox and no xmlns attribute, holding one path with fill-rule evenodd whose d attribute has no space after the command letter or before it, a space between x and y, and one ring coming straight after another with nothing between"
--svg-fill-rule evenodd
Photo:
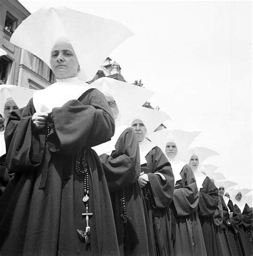
<instances>
[{"instance_id":1,"label":"full-length dark habit of the fifth nun from the front","mask_svg":"<svg viewBox=\"0 0 253 256\"><path fill-rule=\"evenodd\" d=\"M214 218L212 217L219 203L219 193L215 184L209 177L205 177L200 189L200 200L197 212L200 217L202 233L204 237L205 250L208 256L216 256L217 243L214 227Z\"/></svg>"}]
</instances>

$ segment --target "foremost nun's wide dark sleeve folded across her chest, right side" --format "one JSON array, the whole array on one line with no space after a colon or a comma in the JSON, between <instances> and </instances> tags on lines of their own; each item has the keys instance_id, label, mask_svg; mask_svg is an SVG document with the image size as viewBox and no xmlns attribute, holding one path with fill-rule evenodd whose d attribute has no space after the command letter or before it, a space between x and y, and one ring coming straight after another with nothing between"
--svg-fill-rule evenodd
<instances>
[{"instance_id":1,"label":"foremost nun's wide dark sleeve folded across her chest, right side","mask_svg":"<svg viewBox=\"0 0 253 256\"><path fill-rule=\"evenodd\" d=\"M84 148L110 140L115 123L104 94L97 89L87 91L80 100L70 100L53 108L54 132L49 135L51 152L76 155Z\"/></svg>"}]
</instances>

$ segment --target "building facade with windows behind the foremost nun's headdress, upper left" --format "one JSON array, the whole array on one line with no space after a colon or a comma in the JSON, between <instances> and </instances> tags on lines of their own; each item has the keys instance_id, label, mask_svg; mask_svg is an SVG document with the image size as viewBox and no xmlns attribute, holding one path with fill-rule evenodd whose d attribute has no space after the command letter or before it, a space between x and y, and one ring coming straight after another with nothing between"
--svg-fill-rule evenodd
<instances>
[{"instance_id":1,"label":"building facade with windows behind the foremost nun's headdress, upper left","mask_svg":"<svg viewBox=\"0 0 253 256\"><path fill-rule=\"evenodd\" d=\"M15 28L29 15L17 0L0 2L0 47L7 52L0 57L0 83L42 89L55 81L50 68L35 55L10 42Z\"/></svg>"}]
</instances>

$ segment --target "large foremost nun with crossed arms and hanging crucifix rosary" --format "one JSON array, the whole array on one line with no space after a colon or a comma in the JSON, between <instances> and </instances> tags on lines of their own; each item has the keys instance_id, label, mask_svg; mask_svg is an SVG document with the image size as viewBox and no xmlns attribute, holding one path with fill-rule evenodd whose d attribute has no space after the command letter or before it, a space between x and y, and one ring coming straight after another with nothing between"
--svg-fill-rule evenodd
<instances>
[{"instance_id":1,"label":"large foremost nun with crossed arms and hanging crucifix rosary","mask_svg":"<svg viewBox=\"0 0 253 256\"><path fill-rule=\"evenodd\" d=\"M130 34L65 7L44 7L13 33L12 42L50 65L57 82L12 112L6 126L14 176L0 202L2 255L119 255L104 170L91 149L110 140L115 122L105 96L80 79L92 79Z\"/></svg>"}]
</instances>

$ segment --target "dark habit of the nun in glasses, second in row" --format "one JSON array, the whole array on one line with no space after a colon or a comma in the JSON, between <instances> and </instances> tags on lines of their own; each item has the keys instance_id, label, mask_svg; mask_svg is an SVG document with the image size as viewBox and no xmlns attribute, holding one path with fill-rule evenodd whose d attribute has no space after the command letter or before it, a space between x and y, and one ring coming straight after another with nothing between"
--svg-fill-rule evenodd
<instances>
[{"instance_id":1,"label":"dark habit of the nun in glasses, second in row","mask_svg":"<svg viewBox=\"0 0 253 256\"><path fill-rule=\"evenodd\" d=\"M118 138L112 154L99 156L112 200L118 246L121 255L154 255L140 176L139 142L127 128Z\"/></svg>"}]
</instances>

